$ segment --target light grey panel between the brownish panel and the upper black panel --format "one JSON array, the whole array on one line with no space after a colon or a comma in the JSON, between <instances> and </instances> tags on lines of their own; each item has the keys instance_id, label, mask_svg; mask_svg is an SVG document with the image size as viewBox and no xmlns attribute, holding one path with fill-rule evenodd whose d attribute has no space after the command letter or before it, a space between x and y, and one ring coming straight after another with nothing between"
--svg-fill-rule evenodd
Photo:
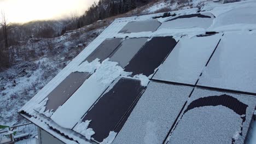
<instances>
[{"instance_id":1,"label":"light grey panel between the brownish panel and the upper black panel","mask_svg":"<svg viewBox=\"0 0 256 144\"><path fill-rule=\"evenodd\" d=\"M117 51L114 52L112 56L109 56L109 61L118 62L119 65L124 68L147 40L148 38L125 39Z\"/></svg>"}]
</instances>

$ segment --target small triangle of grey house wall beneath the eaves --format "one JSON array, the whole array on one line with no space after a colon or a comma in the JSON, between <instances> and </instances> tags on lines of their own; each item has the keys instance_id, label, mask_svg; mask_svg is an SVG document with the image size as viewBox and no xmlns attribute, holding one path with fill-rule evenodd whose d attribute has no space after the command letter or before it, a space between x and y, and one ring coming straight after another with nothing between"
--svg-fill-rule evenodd
<instances>
[{"instance_id":1,"label":"small triangle of grey house wall beneath the eaves","mask_svg":"<svg viewBox=\"0 0 256 144\"><path fill-rule=\"evenodd\" d=\"M43 129L38 128L38 144L65 144Z\"/></svg>"}]
</instances>

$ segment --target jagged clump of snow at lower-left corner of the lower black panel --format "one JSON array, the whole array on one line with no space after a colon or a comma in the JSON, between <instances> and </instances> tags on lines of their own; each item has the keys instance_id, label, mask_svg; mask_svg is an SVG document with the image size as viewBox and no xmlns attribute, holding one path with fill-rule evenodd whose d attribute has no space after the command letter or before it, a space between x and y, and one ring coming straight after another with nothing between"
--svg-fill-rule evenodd
<instances>
[{"instance_id":1,"label":"jagged clump of snow at lower-left corner of the lower black panel","mask_svg":"<svg viewBox=\"0 0 256 144\"><path fill-rule=\"evenodd\" d=\"M77 127L74 128L74 131L77 131L77 133L82 134L86 137L86 139L91 140L91 136L95 134L94 130L92 128L88 128L91 120L86 120L85 122L80 122Z\"/></svg>"}]
</instances>

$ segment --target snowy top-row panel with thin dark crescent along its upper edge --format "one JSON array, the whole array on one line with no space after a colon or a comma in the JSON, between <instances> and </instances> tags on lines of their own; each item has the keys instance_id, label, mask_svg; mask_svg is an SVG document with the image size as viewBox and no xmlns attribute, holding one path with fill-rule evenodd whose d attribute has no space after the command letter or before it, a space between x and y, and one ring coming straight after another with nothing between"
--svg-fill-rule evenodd
<instances>
[{"instance_id":1,"label":"snowy top-row panel with thin dark crescent along its upper edge","mask_svg":"<svg viewBox=\"0 0 256 144\"><path fill-rule=\"evenodd\" d=\"M158 29L162 28L208 28L212 25L214 20L214 15L211 13L201 13L201 14L190 14L181 15L177 17L170 17Z\"/></svg>"}]
</instances>

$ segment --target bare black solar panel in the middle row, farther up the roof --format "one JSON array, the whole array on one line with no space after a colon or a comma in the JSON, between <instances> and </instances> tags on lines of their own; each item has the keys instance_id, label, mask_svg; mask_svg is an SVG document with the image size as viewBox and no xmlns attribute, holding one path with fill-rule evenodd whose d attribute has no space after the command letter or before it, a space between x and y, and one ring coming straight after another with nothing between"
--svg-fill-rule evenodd
<instances>
[{"instance_id":1,"label":"bare black solar panel in the middle row, farther up the roof","mask_svg":"<svg viewBox=\"0 0 256 144\"><path fill-rule=\"evenodd\" d=\"M143 74L149 76L153 74L154 70L164 61L176 43L176 40L172 37L152 38L133 57L125 67L125 71L131 71L132 75Z\"/></svg>"}]
</instances>

